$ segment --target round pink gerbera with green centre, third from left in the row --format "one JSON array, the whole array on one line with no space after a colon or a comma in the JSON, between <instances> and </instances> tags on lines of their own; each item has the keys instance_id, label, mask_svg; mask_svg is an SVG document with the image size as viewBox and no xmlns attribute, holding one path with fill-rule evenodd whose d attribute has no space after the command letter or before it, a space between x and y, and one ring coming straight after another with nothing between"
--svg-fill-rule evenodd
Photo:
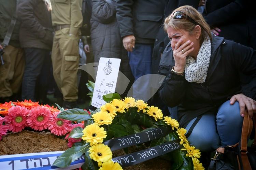
<instances>
[{"instance_id":1,"label":"round pink gerbera with green centre, third from left in the row","mask_svg":"<svg viewBox=\"0 0 256 170\"><path fill-rule=\"evenodd\" d=\"M47 129L52 121L51 111L44 106L32 108L27 118L28 126L36 131Z\"/></svg>"}]
</instances>

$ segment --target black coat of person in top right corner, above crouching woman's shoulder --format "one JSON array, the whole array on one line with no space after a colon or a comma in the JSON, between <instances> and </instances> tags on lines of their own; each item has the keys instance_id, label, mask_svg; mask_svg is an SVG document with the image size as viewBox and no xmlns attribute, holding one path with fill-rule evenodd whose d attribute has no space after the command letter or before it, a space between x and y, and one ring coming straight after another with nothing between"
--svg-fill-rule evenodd
<instances>
[{"instance_id":1,"label":"black coat of person in top right corner, above crouching woman's shoulder","mask_svg":"<svg viewBox=\"0 0 256 170\"><path fill-rule=\"evenodd\" d=\"M204 15L219 36L256 49L255 0L207 0Z\"/></svg>"}]
</instances>

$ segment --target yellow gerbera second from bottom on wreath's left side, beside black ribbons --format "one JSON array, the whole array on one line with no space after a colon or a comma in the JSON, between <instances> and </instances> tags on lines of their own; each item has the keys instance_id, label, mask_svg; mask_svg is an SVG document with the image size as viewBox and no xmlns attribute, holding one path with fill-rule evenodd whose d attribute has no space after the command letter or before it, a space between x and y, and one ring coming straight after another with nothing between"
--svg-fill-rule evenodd
<instances>
[{"instance_id":1,"label":"yellow gerbera second from bottom on wreath's left side, beside black ribbons","mask_svg":"<svg viewBox=\"0 0 256 170\"><path fill-rule=\"evenodd\" d=\"M89 156L96 162L106 162L112 159L112 152L110 148L103 143L93 145L89 148Z\"/></svg>"}]
</instances>

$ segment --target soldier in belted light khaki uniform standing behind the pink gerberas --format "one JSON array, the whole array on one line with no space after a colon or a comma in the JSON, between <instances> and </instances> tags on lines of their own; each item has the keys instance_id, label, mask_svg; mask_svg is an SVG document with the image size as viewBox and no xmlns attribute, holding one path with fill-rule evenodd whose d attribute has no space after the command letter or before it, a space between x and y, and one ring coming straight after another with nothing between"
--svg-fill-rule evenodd
<instances>
[{"instance_id":1,"label":"soldier in belted light khaki uniform standing behind the pink gerberas","mask_svg":"<svg viewBox=\"0 0 256 170\"><path fill-rule=\"evenodd\" d=\"M52 62L53 74L63 95L63 107L77 107L77 67L82 27L82 0L51 0L55 30Z\"/></svg>"}]
</instances>

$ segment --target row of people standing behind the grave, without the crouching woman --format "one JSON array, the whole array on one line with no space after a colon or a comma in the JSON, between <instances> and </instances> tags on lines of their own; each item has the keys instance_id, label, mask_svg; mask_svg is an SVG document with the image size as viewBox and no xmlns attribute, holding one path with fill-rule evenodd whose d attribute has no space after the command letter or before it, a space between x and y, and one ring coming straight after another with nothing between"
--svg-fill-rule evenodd
<instances>
[{"instance_id":1,"label":"row of people standing behind the grave, without the crouching woman","mask_svg":"<svg viewBox=\"0 0 256 170\"><path fill-rule=\"evenodd\" d=\"M161 56L170 41L163 22L175 8L183 5L201 11L214 36L256 49L256 22L251 1L0 2L0 41L3 42L0 48L4 51L0 66L1 102L31 99L46 103L47 91L54 89L55 96L63 98L63 106L76 107L78 89L85 88L81 83L86 83L88 77L84 72L77 74L84 53L87 63L99 62L100 57L120 58L120 71L130 80L129 90L132 82L142 75L159 73ZM11 21L15 21L13 26ZM7 36L11 36L10 42L4 44ZM80 51L84 47L83 54L79 43L83 44L80 46ZM144 91L133 86L133 97L139 99L145 94L147 84L140 85L144 86ZM164 107L158 94L148 102Z\"/></svg>"}]
</instances>

